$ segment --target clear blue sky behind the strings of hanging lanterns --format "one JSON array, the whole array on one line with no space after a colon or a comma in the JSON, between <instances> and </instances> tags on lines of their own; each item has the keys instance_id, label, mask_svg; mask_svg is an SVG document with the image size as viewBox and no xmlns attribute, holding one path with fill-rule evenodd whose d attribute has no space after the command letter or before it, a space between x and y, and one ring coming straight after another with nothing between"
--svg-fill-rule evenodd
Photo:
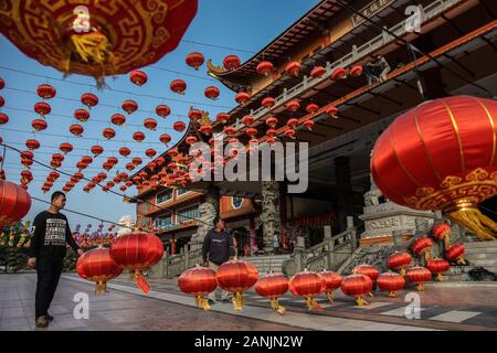
<instances>
[{"instance_id":1,"label":"clear blue sky behind the strings of hanging lanterns","mask_svg":"<svg viewBox=\"0 0 497 353\"><path fill-rule=\"evenodd\" d=\"M188 121L187 115L190 106L192 106L191 101L195 103L197 108L208 110L211 119L218 113L230 111L236 105L233 99L235 94L208 76L205 64L199 71L194 71L184 63L187 54L201 52L204 54L205 61L212 58L215 65L221 65L224 56L235 54L240 56L243 63L318 2L318 0L239 0L235 2L231 0L200 0L197 15L179 46L166 54L156 64L141 68L148 75L146 85L138 87L129 81L128 75L119 75L115 79L107 77L106 83L110 89L104 89L103 92L96 89L94 79L88 76L71 75L64 81L62 73L25 56L2 35L0 36L0 77L6 81L6 88L0 90L0 96L4 98L6 104L0 108L0 111L7 114L10 120L8 124L0 126L0 137L4 143L20 150L27 149L24 145L27 139L35 138L40 141L41 148L33 151L34 159L46 164L50 164L53 153L60 152L60 143L65 141L72 143L74 150L65 156L60 169L71 174L77 171L75 165L81 157L92 156L89 148L93 145L101 145L105 152L94 158L93 163L83 173L91 179L98 172L104 171L102 163L108 157L115 156L119 159L119 163L110 172L104 171L109 176L107 180L109 180L116 171L127 172L124 167L127 162L130 162L133 157L140 157L144 163L148 162L149 159L144 153L146 149L154 148L158 153L162 152L165 147L159 141L161 133L167 132L172 136L170 146L180 139L180 133L173 131L171 127L177 120ZM169 83L175 78L187 82L188 89L184 96L179 96L169 89ZM54 86L57 95L47 101L52 106L52 113L46 117L49 128L34 135L31 120L38 118L38 114L34 113L33 106L41 100L35 94L35 89L42 83ZM203 95L204 88L210 85L215 85L221 90L220 98L215 101L205 98ZM112 92L112 89L126 93ZM78 122L72 115L75 109L85 108L80 101L81 95L85 92L96 94L99 104L92 108L88 121ZM155 97L147 97L147 95ZM126 115L120 108L121 103L126 99L136 100L139 110L129 116ZM166 119L155 116L155 107L159 104L168 105L172 110L171 116ZM126 127L116 127L110 124L110 116L115 113L126 116ZM142 126L142 120L150 116L158 121L157 131L150 131ZM75 138L68 132L68 127L76 122L84 126L83 138ZM117 132L110 141L106 141L102 137L102 130L106 127L112 127ZM147 135L146 140L141 143L131 139L133 132L138 130ZM125 146L131 149L128 159L123 158L117 152L119 148ZM23 165L20 163L18 152L7 150L3 170L7 180L19 183ZM61 175L52 190L44 194L41 191L41 185L51 170L34 163L31 171L34 181L30 183L29 193L45 201L50 201L52 192L62 190L70 178ZM99 220L112 222L117 222L121 215L126 214L136 217L135 204L124 203L120 196L106 193L98 186L89 193L85 193L83 186L86 183L84 180L81 181L67 194L67 210L83 212ZM114 190L119 192L117 186ZM136 189L130 188L126 194L135 195ZM24 220L33 220L39 212L46 208L46 204L33 200L31 210ZM83 227L92 224L93 228L96 228L99 224L99 221L75 215L67 211L63 213L66 214L73 228L76 224L81 224ZM108 225L105 222L104 224Z\"/></svg>"}]
</instances>

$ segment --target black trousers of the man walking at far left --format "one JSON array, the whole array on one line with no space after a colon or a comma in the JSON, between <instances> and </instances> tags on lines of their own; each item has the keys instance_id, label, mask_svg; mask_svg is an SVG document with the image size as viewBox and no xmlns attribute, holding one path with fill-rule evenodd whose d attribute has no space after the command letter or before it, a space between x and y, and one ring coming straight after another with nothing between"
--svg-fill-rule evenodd
<instances>
[{"instance_id":1,"label":"black trousers of the man walking at far left","mask_svg":"<svg viewBox=\"0 0 497 353\"><path fill-rule=\"evenodd\" d=\"M63 258L39 257L36 263L35 318L45 315L61 278Z\"/></svg>"}]
</instances>

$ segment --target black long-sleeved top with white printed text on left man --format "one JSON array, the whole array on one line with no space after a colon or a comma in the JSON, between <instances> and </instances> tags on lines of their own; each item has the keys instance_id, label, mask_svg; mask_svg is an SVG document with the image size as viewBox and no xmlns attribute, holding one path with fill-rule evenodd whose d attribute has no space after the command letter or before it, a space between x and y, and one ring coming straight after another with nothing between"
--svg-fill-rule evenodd
<instances>
[{"instance_id":1,"label":"black long-sleeved top with white printed text on left man","mask_svg":"<svg viewBox=\"0 0 497 353\"><path fill-rule=\"evenodd\" d=\"M66 243L74 250L80 248L71 234L67 218L62 213L43 211L34 218L33 228L29 257L63 258Z\"/></svg>"}]
</instances>

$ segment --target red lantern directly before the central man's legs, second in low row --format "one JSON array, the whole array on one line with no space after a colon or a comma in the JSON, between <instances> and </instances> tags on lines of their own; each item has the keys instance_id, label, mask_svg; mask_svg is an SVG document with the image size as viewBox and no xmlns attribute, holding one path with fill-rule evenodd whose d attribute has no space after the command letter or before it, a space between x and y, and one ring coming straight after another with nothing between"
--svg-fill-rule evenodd
<instances>
[{"instance_id":1,"label":"red lantern directly before the central man's legs, second in low row","mask_svg":"<svg viewBox=\"0 0 497 353\"><path fill-rule=\"evenodd\" d=\"M243 292L255 285L258 271L247 261L233 259L218 268L218 285L233 293L233 309L241 311L244 304Z\"/></svg>"}]
</instances>

